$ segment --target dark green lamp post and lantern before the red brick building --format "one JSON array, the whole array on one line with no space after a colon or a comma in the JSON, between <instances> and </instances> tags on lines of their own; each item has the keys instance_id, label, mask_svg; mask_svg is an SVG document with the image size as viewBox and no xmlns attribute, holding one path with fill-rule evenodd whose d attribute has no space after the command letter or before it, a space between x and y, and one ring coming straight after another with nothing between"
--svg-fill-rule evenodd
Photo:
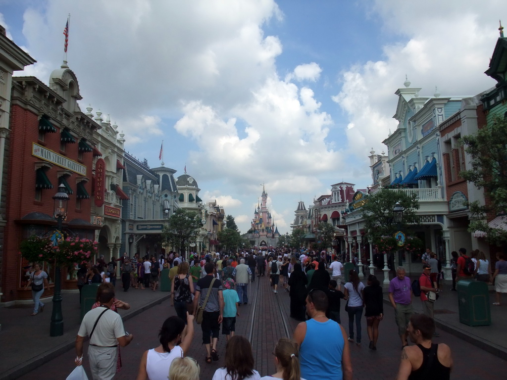
<instances>
[{"instance_id":1,"label":"dark green lamp post and lantern before the red brick building","mask_svg":"<svg viewBox=\"0 0 507 380\"><path fill-rule=\"evenodd\" d=\"M65 193L65 186L58 186L58 193L53 197L54 217L57 221L57 230L62 234L62 222L67 216L68 195ZM55 262L55 287L53 293L53 312L51 314L50 336L63 335L63 314L62 314L62 293L61 293L61 272L59 265Z\"/></svg>"}]
</instances>

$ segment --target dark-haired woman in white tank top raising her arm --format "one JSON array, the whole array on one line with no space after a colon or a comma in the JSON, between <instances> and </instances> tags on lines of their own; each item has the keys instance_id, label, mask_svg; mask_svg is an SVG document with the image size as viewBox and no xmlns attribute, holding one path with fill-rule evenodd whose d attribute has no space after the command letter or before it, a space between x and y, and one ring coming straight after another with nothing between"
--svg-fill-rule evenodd
<instances>
[{"instance_id":1,"label":"dark-haired woman in white tank top raising her arm","mask_svg":"<svg viewBox=\"0 0 507 380\"><path fill-rule=\"evenodd\" d=\"M185 328L187 328L185 338L177 345ZM172 361L185 356L193 337L193 315L187 313L187 327L179 317L167 318L160 329L160 346L142 354L136 380L167 380Z\"/></svg>"}]
</instances>

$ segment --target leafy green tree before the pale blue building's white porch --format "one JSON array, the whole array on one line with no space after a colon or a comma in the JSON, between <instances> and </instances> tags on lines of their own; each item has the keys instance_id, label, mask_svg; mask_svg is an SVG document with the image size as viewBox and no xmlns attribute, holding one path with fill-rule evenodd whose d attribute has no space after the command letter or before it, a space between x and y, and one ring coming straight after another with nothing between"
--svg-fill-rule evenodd
<instances>
[{"instance_id":1,"label":"leafy green tree before the pale blue building's white porch","mask_svg":"<svg viewBox=\"0 0 507 380\"><path fill-rule=\"evenodd\" d=\"M403 207L403 220L394 221L394 206L400 202ZM381 189L368 197L368 202L361 208L365 221L365 230L374 244L383 236L392 237L397 231L411 236L412 227L418 223L416 211L419 209L417 194L404 191Z\"/></svg>"}]
</instances>

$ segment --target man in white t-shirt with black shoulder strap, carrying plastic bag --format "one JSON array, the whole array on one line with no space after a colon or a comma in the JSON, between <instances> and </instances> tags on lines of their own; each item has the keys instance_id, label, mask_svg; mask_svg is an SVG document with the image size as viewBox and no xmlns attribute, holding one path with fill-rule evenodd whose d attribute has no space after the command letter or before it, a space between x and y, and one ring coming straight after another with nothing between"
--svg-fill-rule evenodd
<instances>
[{"instance_id":1,"label":"man in white t-shirt with black shoulder strap, carrying plastic bag","mask_svg":"<svg viewBox=\"0 0 507 380\"><path fill-rule=\"evenodd\" d=\"M85 314L76 337L77 357L74 362L78 366L83 364L84 338L90 335L88 360L94 380L110 380L115 376L118 346L127 346L134 337L132 334L125 334L122 318L110 310L114 298L113 289L102 291L99 297L100 306Z\"/></svg>"}]
</instances>

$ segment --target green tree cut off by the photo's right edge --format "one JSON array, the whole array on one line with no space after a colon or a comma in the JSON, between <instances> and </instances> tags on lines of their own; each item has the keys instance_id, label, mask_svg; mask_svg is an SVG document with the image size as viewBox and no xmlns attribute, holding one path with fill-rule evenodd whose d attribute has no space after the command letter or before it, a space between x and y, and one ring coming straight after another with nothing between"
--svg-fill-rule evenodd
<instances>
[{"instance_id":1,"label":"green tree cut off by the photo's right edge","mask_svg":"<svg viewBox=\"0 0 507 380\"><path fill-rule=\"evenodd\" d=\"M507 231L492 229L486 222L486 214L504 213L507 210L507 119L494 118L493 122L479 129L476 134L464 136L461 140L470 155L469 170L459 175L484 192L490 202L481 205L479 201L468 204L472 220L468 231L484 231L491 244L507 243Z\"/></svg>"}]
</instances>

